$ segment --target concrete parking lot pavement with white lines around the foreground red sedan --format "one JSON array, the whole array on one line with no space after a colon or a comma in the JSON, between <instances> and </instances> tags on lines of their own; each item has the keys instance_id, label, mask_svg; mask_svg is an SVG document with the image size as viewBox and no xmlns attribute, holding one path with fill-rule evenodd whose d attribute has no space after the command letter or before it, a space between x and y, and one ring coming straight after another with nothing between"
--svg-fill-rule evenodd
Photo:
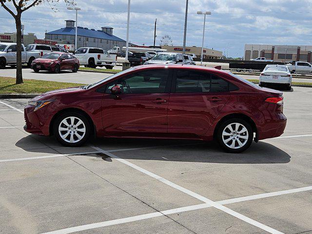
<instances>
[{"instance_id":1,"label":"concrete parking lot pavement with white lines around the foreground red sedan","mask_svg":"<svg viewBox=\"0 0 312 234\"><path fill-rule=\"evenodd\" d=\"M189 140L66 148L23 130L27 99L0 99L0 233L312 233L312 89L284 98L284 135L238 155Z\"/></svg>"}]
</instances>

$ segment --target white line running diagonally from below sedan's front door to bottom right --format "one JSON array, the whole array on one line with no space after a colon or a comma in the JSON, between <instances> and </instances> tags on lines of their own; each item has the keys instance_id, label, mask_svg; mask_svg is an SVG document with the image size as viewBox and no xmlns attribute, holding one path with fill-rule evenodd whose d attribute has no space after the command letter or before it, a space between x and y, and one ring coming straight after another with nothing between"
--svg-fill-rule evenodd
<instances>
[{"instance_id":1,"label":"white line running diagonally from below sedan's front door to bottom right","mask_svg":"<svg viewBox=\"0 0 312 234\"><path fill-rule=\"evenodd\" d=\"M177 184L175 184L175 183L173 183L173 182L171 182L171 181L169 181L169 180L167 180L167 179L165 179L165 178L163 178L161 176L158 176L158 175L156 175L156 174L154 174L154 173L152 173L150 171L147 171L147 170L137 166L136 164L133 164L131 162L128 162L125 159L122 159L122 158L120 158L120 157L118 157L116 155L113 155L112 153L110 153L108 151L102 150L101 148L98 148L98 147L93 147L93 148L95 150L98 150L99 152L102 152L102 153L106 154L107 156L115 158L119 162L122 162L122 163L124 163L124 164L126 164L126 165L128 165L128 166L130 166L130 167L132 167L132 168L134 168L134 169L136 169L136 170L138 170L138 171L148 175L148 176L151 176L151 177L159 180L160 182L162 182L164 184L169 185L170 187L173 187L173 188L175 188L175 189L177 189L177 190L179 190L179 191L181 191L181 192L183 192L183 193L185 193L187 195L193 196L193 197L195 197L195 198L197 198L197 199L199 199L199 200L201 200L201 201L203 201L203 202L205 202L205 203L215 207L218 210L221 210L221 211L223 211L223 212L225 212L225 213L227 213L229 215L232 215L232 216L234 216L234 217L236 217L236 218L238 218L240 220L243 220L243 221L245 221L245 222L247 222L249 224L252 224L255 227L258 227L258 228L260 228L262 230L265 230L265 231L267 231L269 233L272 233L272 234L282 234L281 232L279 232L279 231L277 231L277 230L275 230L275 229L273 229L273 228L271 228L271 227L269 227L267 225L264 225L264 224L262 224L260 222L257 222L254 219L251 219L251 218L249 218L249 217L247 217L245 215L239 214L238 212L235 212L235 211L233 211L233 210L231 210L231 209L229 209L229 208L227 208L227 207L225 207L225 206L223 206L221 204L218 204L217 202L215 202L213 200L210 200L210 199L208 199L208 198L206 198L206 197L204 197L202 195L196 194L193 191L190 191L190 190L188 190L186 188L183 188L183 187L181 187L181 186L179 186L179 185L177 185Z\"/></svg>"}]
</instances>

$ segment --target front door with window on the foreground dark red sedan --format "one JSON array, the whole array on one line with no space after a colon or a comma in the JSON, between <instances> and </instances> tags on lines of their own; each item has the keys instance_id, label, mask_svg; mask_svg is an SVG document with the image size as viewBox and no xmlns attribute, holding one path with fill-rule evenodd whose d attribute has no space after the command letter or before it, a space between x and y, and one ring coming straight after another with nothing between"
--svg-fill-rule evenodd
<instances>
[{"instance_id":1,"label":"front door with window on the foreground dark red sedan","mask_svg":"<svg viewBox=\"0 0 312 234\"><path fill-rule=\"evenodd\" d=\"M102 101L104 131L110 136L166 134L171 74L169 69L138 71L107 84ZM118 96L111 94L115 85L121 87Z\"/></svg>"}]
</instances>

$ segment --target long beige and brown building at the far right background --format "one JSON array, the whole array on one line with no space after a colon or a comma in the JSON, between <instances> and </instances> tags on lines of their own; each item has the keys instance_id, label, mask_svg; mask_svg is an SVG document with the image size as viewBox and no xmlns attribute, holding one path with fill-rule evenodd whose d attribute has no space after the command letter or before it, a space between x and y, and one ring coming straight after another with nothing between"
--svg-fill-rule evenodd
<instances>
[{"instance_id":1,"label":"long beige and brown building at the far right background","mask_svg":"<svg viewBox=\"0 0 312 234\"><path fill-rule=\"evenodd\" d=\"M245 44L245 60L265 57L274 61L308 61L311 62L311 45L261 45Z\"/></svg>"}]
</instances>

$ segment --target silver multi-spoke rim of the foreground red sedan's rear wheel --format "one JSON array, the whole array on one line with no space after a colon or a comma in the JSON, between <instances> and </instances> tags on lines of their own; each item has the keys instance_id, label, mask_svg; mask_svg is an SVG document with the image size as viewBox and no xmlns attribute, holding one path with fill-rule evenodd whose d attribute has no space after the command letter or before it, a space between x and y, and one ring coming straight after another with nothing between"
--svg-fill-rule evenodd
<instances>
[{"instance_id":1,"label":"silver multi-spoke rim of the foreground red sedan's rear wheel","mask_svg":"<svg viewBox=\"0 0 312 234\"><path fill-rule=\"evenodd\" d=\"M248 130L241 123L231 123L222 132L223 143L231 149L239 149L248 141Z\"/></svg>"}]
</instances>

